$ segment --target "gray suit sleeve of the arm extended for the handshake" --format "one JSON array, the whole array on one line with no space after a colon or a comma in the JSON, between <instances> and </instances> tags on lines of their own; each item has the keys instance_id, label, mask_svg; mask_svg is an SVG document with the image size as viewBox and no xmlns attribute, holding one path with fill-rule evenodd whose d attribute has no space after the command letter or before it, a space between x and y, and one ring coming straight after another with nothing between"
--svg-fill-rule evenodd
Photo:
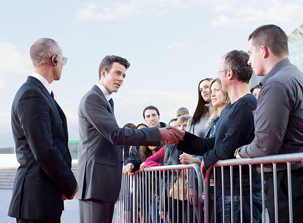
<instances>
[{"instance_id":1,"label":"gray suit sleeve of the arm extended for the handshake","mask_svg":"<svg viewBox=\"0 0 303 223\"><path fill-rule=\"evenodd\" d=\"M107 101L98 94L89 94L84 99L84 113L93 127L115 145L159 145L158 128L140 130L119 128L115 117L107 110ZM109 105L108 105L109 106ZM82 114L80 114L81 116Z\"/></svg>"}]
</instances>

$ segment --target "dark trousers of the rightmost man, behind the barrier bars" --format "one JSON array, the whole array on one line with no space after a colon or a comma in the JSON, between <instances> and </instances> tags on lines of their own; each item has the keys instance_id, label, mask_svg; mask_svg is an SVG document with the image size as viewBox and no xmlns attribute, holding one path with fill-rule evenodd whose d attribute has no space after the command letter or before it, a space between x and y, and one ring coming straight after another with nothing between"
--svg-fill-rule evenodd
<instances>
[{"instance_id":1,"label":"dark trousers of the rightmost man, behind the barrier bars","mask_svg":"<svg viewBox=\"0 0 303 223\"><path fill-rule=\"evenodd\" d=\"M291 171L292 175L292 199L293 199L293 222L302 223L303 214L303 170ZM269 221L275 222L273 173L264 173L265 193L267 195L265 206L268 210ZM278 197L278 220L279 223L289 223L288 209L288 184L287 171L277 172L277 197Z\"/></svg>"}]
</instances>

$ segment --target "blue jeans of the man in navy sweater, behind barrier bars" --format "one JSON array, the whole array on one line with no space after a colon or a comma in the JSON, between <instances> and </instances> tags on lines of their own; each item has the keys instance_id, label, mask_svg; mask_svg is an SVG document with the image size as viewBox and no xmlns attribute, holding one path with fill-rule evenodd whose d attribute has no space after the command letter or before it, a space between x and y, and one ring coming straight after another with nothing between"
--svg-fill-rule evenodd
<instances>
[{"instance_id":1,"label":"blue jeans of the man in navy sweater, behind barrier bars","mask_svg":"<svg viewBox=\"0 0 303 223\"><path fill-rule=\"evenodd\" d=\"M225 222L231 222L231 196L224 196ZM222 196L217 196L217 222L223 222ZM241 222L240 195L233 196L234 222ZM253 222L258 223L262 215L262 192L253 194ZM251 222L250 195L243 196L243 222Z\"/></svg>"}]
</instances>

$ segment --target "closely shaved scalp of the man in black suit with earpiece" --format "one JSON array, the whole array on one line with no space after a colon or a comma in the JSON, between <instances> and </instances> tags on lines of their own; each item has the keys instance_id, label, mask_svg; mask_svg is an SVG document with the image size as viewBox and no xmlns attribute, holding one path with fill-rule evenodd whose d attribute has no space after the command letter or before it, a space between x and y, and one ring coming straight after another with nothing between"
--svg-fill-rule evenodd
<instances>
[{"instance_id":1,"label":"closely shaved scalp of the man in black suit with earpiece","mask_svg":"<svg viewBox=\"0 0 303 223\"><path fill-rule=\"evenodd\" d=\"M61 51L57 42L49 38L37 40L30 49L30 56L34 67L41 67L46 64L53 54Z\"/></svg>"}]
</instances>

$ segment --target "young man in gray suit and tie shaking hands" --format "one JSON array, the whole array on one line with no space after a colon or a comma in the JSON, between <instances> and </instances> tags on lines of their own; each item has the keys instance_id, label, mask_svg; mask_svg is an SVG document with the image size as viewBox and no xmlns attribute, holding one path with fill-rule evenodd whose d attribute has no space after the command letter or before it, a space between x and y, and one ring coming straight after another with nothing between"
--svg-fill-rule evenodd
<instances>
[{"instance_id":1,"label":"young man in gray suit and tie shaking hands","mask_svg":"<svg viewBox=\"0 0 303 223\"><path fill-rule=\"evenodd\" d=\"M119 128L110 94L121 87L129 66L125 58L105 56L99 66L99 83L80 101L76 198L81 223L111 223L121 186L120 145L159 145L160 140L182 140L180 134L165 128Z\"/></svg>"}]
</instances>

